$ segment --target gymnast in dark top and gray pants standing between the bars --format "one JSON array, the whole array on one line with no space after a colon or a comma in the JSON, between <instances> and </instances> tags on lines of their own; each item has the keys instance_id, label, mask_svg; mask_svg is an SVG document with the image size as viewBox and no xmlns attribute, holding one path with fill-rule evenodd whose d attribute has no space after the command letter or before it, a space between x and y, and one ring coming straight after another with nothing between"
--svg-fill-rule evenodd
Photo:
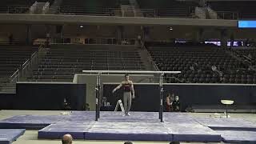
<instances>
[{"instance_id":1,"label":"gymnast in dark top and gray pants standing between the bars","mask_svg":"<svg viewBox=\"0 0 256 144\"><path fill-rule=\"evenodd\" d=\"M123 116L130 116L130 106L131 106L131 98L135 98L134 94L134 84L129 80L129 75L125 75L125 81L121 82L119 86L114 88L113 93L120 89L123 86L123 104L125 108L125 114Z\"/></svg>"}]
</instances>

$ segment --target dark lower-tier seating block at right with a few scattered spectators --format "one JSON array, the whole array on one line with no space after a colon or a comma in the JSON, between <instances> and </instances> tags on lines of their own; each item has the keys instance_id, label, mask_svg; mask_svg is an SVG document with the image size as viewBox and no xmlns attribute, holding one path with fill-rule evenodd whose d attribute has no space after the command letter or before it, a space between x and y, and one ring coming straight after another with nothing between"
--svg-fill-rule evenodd
<instances>
[{"instance_id":1,"label":"dark lower-tier seating block at right with a few scattered spectators","mask_svg":"<svg viewBox=\"0 0 256 144\"><path fill-rule=\"evenodd\" d=\"M159 70L180 70L167 82L256 83L254 71L218 47L150 47Z\"/></svg>"}]
</instances>

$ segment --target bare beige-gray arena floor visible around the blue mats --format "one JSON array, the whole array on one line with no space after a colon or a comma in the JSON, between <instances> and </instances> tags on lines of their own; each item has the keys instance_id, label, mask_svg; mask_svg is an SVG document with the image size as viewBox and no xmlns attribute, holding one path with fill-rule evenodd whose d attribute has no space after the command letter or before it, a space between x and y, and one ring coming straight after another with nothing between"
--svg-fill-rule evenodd
<instances>
[{"instance_id":1,"label":"bare beige-gray arena floor visible around the blue mats","mask_svg":"<svg viewBox=\"0 0 256 144\"><path fill-rule=\"evenodd\" d=\"M10 118L14 115L20 114L36 114L36 115L50 115L50 114L60 114L63 111L43 111L43 110L0 110L0 119ZM190 113L193 117L202 117L202 118L209 118L214 117L218 114L214 113ZM230 114L231 118L243 118L252 122L256 122L256 114ZM48 144L59 144L61 143L60 140L38 140L38 130L26 130L25 134L22 135L14 144L41 144L41 143L48 143ZM119 141L82 141L82 140L74 140L74 144L122 144L123 142ZM169 142L134 142L136 144L146 144L146 143L157 143L157 144L167 144ZM198 143L199 142L181 142L181 143ZM201 142L202 143L202 142ZM209 142L208 142L209 143Z\"/></svg>"}]
</instances>

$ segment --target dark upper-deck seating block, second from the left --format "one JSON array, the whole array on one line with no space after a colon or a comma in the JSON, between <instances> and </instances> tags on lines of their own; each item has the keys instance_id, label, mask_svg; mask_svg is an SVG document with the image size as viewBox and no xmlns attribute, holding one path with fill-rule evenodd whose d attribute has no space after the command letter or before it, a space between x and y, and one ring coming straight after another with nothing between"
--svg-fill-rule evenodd
<instances>
[{"instance_id":1,"label":"dark upper-deck seating block, second from the left","mask_svg":"<svg viewBox=\"0 0 256 144\"><path fill-rule=\"evenodd\" d=\"M113 8L119 8L118 0L63 0L60 12L62 14L90 14L90 15L112 15Z\"/></svg>"}]
</instances>

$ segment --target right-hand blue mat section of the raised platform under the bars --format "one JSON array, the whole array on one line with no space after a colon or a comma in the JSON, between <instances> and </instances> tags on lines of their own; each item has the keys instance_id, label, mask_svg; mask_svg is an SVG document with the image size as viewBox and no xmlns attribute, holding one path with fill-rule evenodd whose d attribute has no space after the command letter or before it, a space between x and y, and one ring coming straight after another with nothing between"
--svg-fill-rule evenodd
<instances>
[{"instance_id":1,"label":"right-hand blue mat section of the raised platform under the bars","mask_svg":"<svg viewBox=\"0 0 256 144\"><path fill-rule=\"evenodd\" d=\"M220 142L221 135L211 130L185 113L165 113L163 125L173 134L173 141L178 142Z\"/></svg>"}]
</instances>

